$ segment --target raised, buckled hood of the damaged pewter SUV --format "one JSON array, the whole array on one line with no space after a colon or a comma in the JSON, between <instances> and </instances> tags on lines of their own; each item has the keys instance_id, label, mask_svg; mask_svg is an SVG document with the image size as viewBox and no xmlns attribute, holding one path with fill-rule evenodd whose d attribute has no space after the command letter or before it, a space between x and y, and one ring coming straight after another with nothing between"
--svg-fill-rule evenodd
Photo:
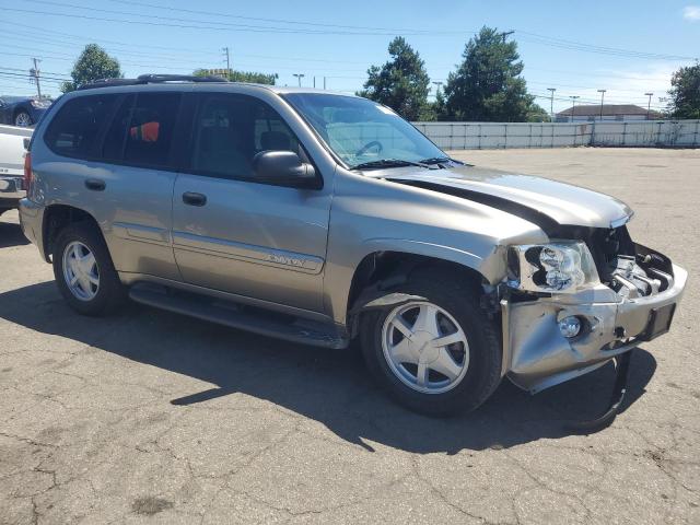
<instances>
[{"instance_id":1,"label":"raised, buckled hood of the damaged pewter SUV","mask_svg":"<svg viewBox=\"0 0 700 525\"><path fill-rule=\"evenodd\" d=\"M545 230L557 225L617 228L633 213L625 202L608 195L497 170L474 166L385 170L382 177L481 202L548 226Z\"/></svg>"}]
</instances>

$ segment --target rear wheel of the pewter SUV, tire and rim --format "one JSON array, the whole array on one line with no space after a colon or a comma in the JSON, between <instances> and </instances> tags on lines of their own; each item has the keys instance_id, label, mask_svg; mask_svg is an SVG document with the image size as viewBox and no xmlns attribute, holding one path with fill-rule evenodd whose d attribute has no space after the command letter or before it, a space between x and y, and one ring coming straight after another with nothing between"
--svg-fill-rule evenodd
<instances>
[{"instance_id":1,"label":"rear wheel of the pewter SUV, tire and rim","mask_svg":"<svg viewBox=\"0 0 700 525\"><path fill-rule=\"evenodd\" d=\"M89 222L66 226L58 234L52 259L58 289L75 312L102 316L124 303L126 289L97 226Z\"/></svg>"}]
</instances>

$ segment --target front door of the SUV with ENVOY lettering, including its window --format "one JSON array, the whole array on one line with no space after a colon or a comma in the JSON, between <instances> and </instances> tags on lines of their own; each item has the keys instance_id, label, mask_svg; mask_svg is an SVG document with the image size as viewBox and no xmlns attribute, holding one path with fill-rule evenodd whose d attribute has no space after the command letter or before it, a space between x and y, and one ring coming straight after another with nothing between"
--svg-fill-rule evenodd
<instances>
[{"instance_id":1,"label":"front door of the SUV with ENVOY lettering, including its window","mask_svg":"<svg viewBox=\"0 0 700 525\"><path fill-rule=\"evenodd\" d=\"M173 194L173 245L184 281L322 312L330 188L257 182L256 153L305 155L293 132L256 97L195 96L189 165Z\"/></svg>"}]
</instances>

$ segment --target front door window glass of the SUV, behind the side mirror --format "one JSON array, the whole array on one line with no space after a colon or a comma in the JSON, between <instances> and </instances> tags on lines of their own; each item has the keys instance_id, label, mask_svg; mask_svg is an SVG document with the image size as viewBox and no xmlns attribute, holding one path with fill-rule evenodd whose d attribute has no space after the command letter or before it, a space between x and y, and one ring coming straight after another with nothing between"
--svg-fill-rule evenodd
<instances>
[{"instance_id":1,"label":"front door window glass of the SUV, behind the side mirror","mask_svg":"<svg viewBox=\"0 0 700 525\"><path fill-rule=\"evenodd\" d=\"M201 94L195 118L191 168L220 178L255 180L253 158L261 151L300 152L282 117L245 95Z\"/></svg>"}]
</instances>

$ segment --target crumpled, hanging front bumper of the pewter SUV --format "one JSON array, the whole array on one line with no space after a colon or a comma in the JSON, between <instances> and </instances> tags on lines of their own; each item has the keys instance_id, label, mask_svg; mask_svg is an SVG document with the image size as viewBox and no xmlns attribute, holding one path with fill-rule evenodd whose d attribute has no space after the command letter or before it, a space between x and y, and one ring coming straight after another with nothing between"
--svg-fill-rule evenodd
<instances>
[{"instance_id":1,"label":"crumpled, hanging front bumper of the pewter SUV","mask_svg":"<svg viewBox=\"0 0 700 525\"><path fill-rule=\"evenodd\" d=\"M627 299L599 284L572 295L501 301L503 375L535 394L591 372L639 346L652 313L680 301L688 273L673 265L673 283L654 295ZM586 334L567 339L558 320L576 315L591 322Z\"/></svg>"}]
</instances>

